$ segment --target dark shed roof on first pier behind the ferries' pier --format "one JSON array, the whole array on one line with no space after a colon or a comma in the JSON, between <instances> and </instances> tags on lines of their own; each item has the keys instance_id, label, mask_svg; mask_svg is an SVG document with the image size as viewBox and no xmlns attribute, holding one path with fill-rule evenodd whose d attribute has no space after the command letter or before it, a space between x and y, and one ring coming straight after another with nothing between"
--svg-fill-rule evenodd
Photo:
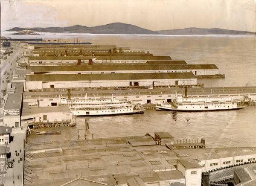
<instances>
[{"instance_id":1,"label":"dark shed roof on first pier behind the ferries' pier","mask_svg":"<svg viewBox=\"0 0 256 186\"><path fill-rule=\"evenodd\" d=\"M35 74L26 81L84 81L84 80L137 80L137 79L189 79L193 73L114 73L114 74Z\"/></svg>"}]
</instances>

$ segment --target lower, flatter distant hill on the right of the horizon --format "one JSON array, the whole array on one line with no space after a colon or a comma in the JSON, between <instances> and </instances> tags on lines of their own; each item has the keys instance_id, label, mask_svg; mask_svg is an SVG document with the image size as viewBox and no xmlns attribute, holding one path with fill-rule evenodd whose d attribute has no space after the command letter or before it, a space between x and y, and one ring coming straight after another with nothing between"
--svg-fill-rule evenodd
<instances>
[{"instance_id":1,"label":"lower, flatter distant hill on the right of the horizon","mask_svg":"<svg viewBox=\"0 0 256 186\"><path fill-rule=\"evenodd\" d=\"M207 35L207 34L255 34L255 32L245 32L237 30L227 30L227 29L200 29L195 27L190 27L186 29L173 29L173 30L160 30L157 31L159 34L168 34L168 35Z\"/></svg>"}]
</instances>

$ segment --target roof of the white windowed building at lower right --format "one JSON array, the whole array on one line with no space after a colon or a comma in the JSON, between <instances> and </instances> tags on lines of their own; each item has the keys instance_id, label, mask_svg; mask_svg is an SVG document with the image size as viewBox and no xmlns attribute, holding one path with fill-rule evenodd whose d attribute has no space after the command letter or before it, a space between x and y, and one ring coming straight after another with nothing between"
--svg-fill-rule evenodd
<instances>
[{"instance_id":1,"label":"roof of the white windowed building at lower right","mask_svg":"<svg viewBox=\"0 0 256 186\"><path fill-rule=\"evenodd\" d=\"M224 157L236 157L249 154L256 154L256 147L232 147L232 148L202 148L202 149L179 149L173 150L180 154L180 158L191 158L203 160L212 160Z\"/></svg>"}]
</instances>

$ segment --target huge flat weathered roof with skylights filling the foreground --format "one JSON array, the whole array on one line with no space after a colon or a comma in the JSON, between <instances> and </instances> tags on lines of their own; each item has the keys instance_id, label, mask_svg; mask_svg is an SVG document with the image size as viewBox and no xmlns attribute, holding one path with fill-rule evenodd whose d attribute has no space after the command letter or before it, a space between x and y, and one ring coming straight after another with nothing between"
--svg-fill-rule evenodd
<instances>
[{"instance_id":1,"label":"huge flat weathered roof with skylights filling the foreground","mask_svg":"<svg viewBox=\"0 0 256 186\"><path fill-rule=\"evenodd\" d=\"M33 157L28 165L37 167L36 172L32 171L29 176L38 186L61 185L80 176L81 172L85 179L110 185L113 177L119 184L127 183L132 177L139 177L144 183L185 179L180 171L175 170L177 156L172 150L161 145L133 146L131 141L143 143L154 139L145 135L27 143L26 152ZM46 150L60 148L59 152L46 153ZM49 176L53 179L49 180Z\"/></svg>"}]
</instances>

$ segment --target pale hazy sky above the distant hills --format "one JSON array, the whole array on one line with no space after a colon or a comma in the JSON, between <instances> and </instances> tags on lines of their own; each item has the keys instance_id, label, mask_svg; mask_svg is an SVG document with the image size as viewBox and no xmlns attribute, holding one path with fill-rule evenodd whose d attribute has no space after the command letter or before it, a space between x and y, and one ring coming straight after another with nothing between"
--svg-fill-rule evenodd
<instances>
[{"instance_id":1,"label":"pale hazy sky above the distant hills","mask_svg":"<svg viewBox=\"0 0 256 186\"><path fill-rule=\"evenodd\" d=\"M1 0L1 31L13 27L188 27L256 32L256 0Z\"/></svg>"}]
</instances>

